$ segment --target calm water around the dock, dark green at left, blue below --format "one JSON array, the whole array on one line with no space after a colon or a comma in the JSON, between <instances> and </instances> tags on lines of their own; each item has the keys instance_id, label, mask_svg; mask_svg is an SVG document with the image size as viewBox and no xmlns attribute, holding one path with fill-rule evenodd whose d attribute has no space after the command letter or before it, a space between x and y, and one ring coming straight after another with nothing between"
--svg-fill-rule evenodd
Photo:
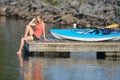
<instances>
[{"instance_id":1,"label":"calm water around the dock, dark green at left, blue below","mask_svg":"<svg viewBox=\"0 0 120 80\"><path fill-rule=\"evenodd\" d=\"M120 80L120 61L96 60L95 53L23 60L16 51L26 24L27 21L0 17L0 80ZM54 25L46 26L49 30Z\"/></svg>"}]
</instances>

